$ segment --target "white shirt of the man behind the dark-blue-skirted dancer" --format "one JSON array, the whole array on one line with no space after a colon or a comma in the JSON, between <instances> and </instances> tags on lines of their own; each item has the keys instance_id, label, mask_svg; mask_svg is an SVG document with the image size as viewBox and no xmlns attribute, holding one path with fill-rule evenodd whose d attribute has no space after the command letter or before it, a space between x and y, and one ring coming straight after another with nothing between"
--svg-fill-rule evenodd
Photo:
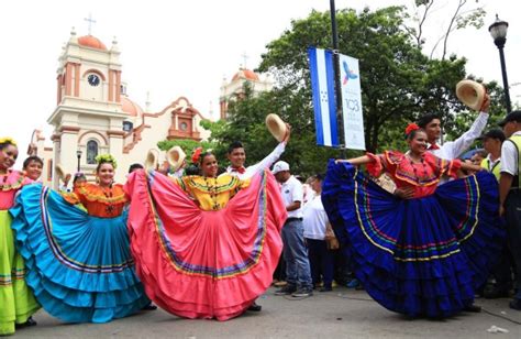
<instances>
[{"instance_id":1,"label":"white shirt of the man behind the dark-blue-skirted dancer","mask_svg":"<svg viewBox=\"0 0 521 339\"><path fill-rule=\"evenodd\" d=\"M428 149L428 151L444 160L458 158L466 150L468 150L468 147L470 147L473 142L481 135L483 130L487 125L487 121L488 113L479 112L479 116L476 118L470 129L463 133L462 136L454 141L447 141L443 145L437 145L440 147L437 150Z\"/></svg>"}]
</instances>

